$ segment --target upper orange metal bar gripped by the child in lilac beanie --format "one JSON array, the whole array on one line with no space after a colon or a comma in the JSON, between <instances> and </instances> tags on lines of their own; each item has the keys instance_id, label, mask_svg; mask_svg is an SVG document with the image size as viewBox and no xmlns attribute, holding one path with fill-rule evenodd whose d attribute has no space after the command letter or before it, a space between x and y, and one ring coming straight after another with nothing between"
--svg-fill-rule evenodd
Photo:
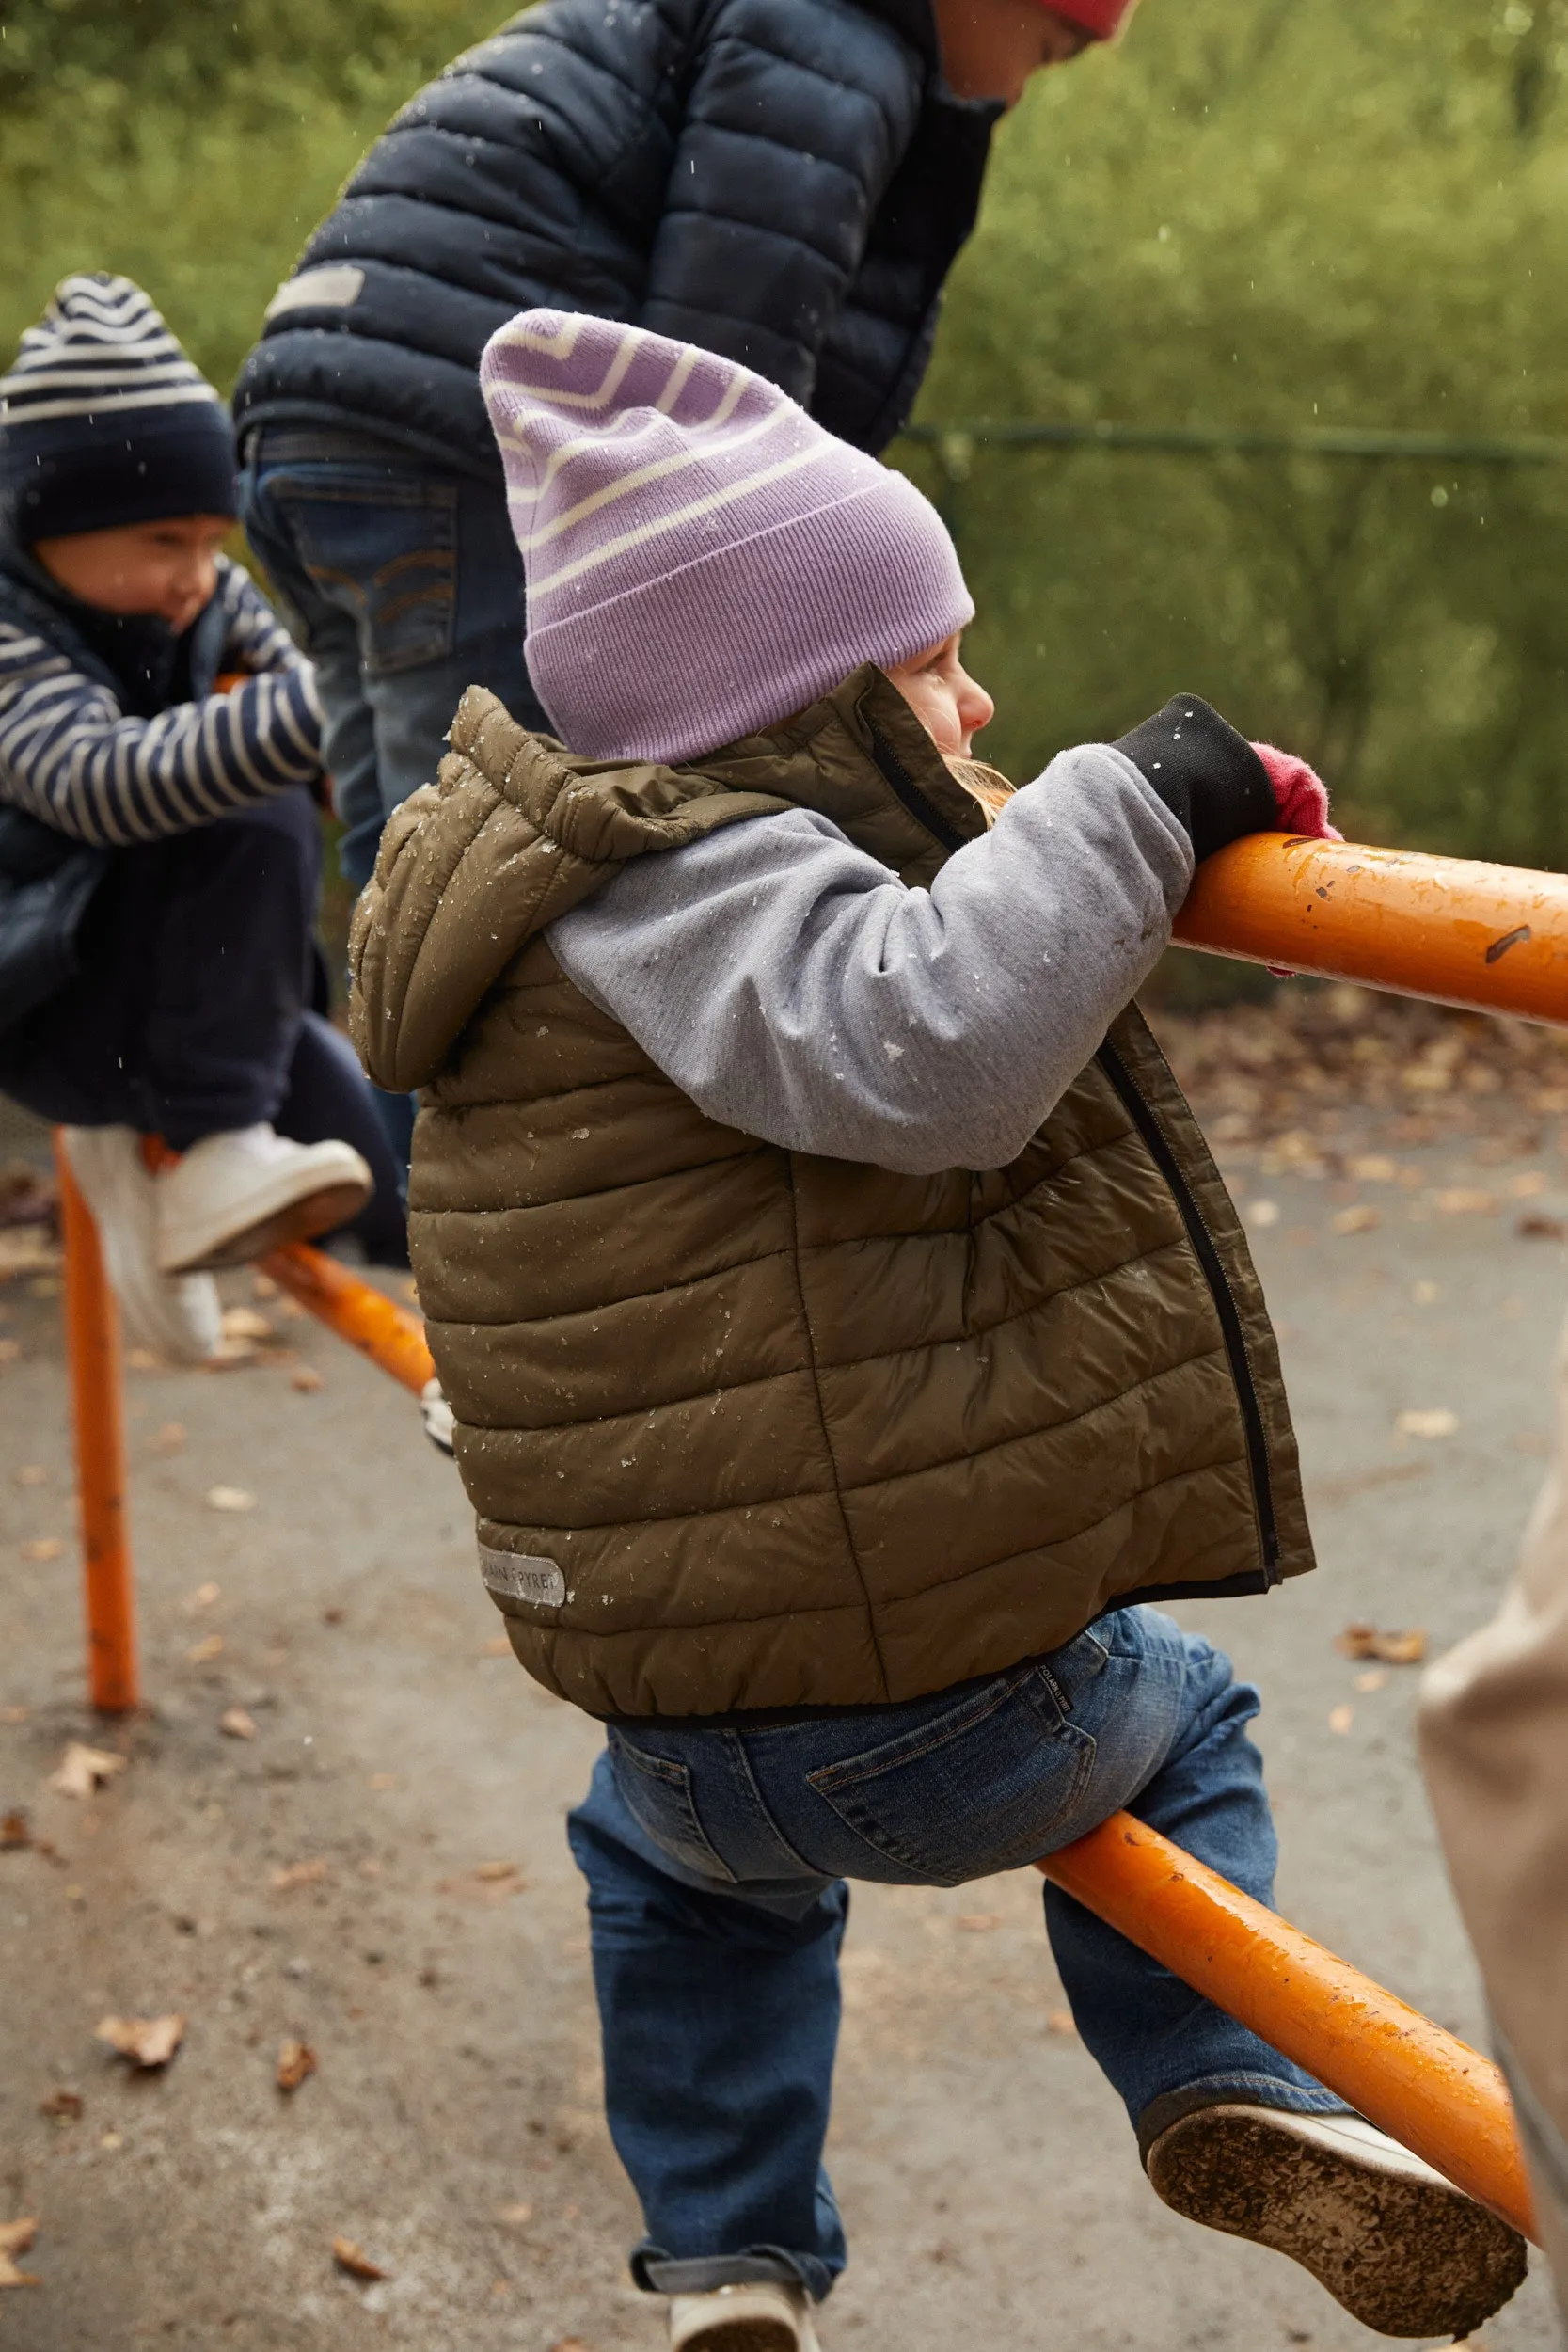
<instances>
[{"instance_id":1,"label":"upper orange metal bar gripped by the child in lilac beanie","mask_svg":"<svg viewBox=\"0 0 1568 2352\"><path fill-rule=\"evenodd\" d=\"M1568 875L1253 833L1204 858L1175 938L1568 1025Z\"/></svg>"}]
</instances>

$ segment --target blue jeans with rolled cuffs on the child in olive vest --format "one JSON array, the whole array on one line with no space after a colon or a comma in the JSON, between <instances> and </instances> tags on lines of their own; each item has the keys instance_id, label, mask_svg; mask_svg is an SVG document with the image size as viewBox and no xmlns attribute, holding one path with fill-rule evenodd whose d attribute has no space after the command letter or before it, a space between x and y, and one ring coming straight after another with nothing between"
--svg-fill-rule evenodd
<instances>
[{"instance_id":1,"label":"blue jeans with rolled cuffs on the child in olive vest","mask_svg":"<svg viewBox=\"0 0 1568 2352\"><path fill-rule=\"evenodd\" d=\"M646 2225L639 2286L795 2279L820 2298L844 2267L823 2171L844 1879L959 1886L1126 1806L1269 1903L1255 1712L1229 1658L1157 1609L1126 1609L1048 1658L912 1705L611 1726L569 1832L609 2129ZM1218 2098L1345 2107L1056 1886L1046 1931L1079 2034L1145 2145Z\"/></svg>"}]
</instances>

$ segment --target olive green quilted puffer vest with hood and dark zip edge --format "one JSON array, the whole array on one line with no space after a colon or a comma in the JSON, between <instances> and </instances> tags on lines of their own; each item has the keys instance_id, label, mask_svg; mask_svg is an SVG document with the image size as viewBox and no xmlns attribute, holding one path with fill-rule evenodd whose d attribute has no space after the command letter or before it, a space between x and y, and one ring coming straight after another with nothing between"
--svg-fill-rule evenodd
<instances>
[{"instance_id":1,"label":"olive green quilted puffer vest with hood and dark zip edge","mask_svg":"<svg viewBox=\"0 0 1568 2352\"><path fill-rule=\"evenodd\" d=\"M1138 1014L1004 1169L708 1120L545 927L632 856L809 807L907 884L983 828L879 670L701 767L592 764L470 689L353 936L512 1649L590 1715L914 1698L1131 1597L1312 1566L1234 1209ZM703 1018L703 1007L691 1007Z\"/></svg>"}]
</instances>

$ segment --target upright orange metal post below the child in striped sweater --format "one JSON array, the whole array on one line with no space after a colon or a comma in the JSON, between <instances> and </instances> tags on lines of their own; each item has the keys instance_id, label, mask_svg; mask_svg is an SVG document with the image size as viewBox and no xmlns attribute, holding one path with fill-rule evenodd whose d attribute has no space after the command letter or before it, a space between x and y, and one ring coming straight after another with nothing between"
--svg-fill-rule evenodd
<instances>
[{"instance_id":1,"label":"upright orange metal post below the child in striped sweater","mask_svg":"<svg viewBox=\"0 0 1568 2352\"><path fill-rule=\"evenodd\" d=\"M75 1402L75 1463L82 1496L87 1583L87 1684L103 1715L141 1703L136 1675L136 1588L125 1526L125 1411L120 1399L120 1312L103 1275L103 1249L66 1150L54 1138L66 1237L66 1348Z\"/></svg>"}]
</instances>

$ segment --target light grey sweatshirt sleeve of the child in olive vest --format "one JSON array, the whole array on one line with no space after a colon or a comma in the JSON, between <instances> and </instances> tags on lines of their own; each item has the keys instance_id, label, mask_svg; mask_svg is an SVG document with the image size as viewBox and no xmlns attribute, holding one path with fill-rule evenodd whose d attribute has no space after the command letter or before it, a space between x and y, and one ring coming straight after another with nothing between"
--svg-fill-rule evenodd
<instances>
[{"instance_id":1,"label":"light grey sweatshirt sleeve of the child in olive vest","mask_svg":"<svg viewBox=\"0 0 1568 2352\"><path fill-rule=\"evenodd\" d=\"M806 809L637 858L555 957L710 1117L905 1174L1006 1167L1171 936L1185 828L1060 753L929 891Z\"/></svg>"}]
</instances>

